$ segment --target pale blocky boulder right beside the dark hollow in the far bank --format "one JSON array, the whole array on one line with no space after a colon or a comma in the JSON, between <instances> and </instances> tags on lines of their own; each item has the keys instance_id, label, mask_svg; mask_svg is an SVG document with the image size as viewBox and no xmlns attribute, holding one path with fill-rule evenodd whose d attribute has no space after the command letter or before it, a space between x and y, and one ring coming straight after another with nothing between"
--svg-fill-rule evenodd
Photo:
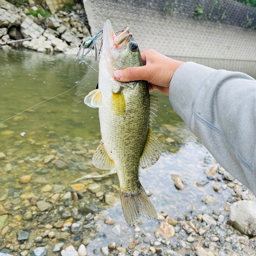
<instances>
[{"instance_id":1,"label":"pale blocky boulder right beside the dark hollow in the far bank","mask_svg":"<svg viewBox=\"0 0 256 256\"><path fill-rule=\"evenodd\" d=\"M33 19L26 17L22 25L20 25L20 31L25 38L38 38L45 30L34 23Z\"/></svg>"}]
</instances>

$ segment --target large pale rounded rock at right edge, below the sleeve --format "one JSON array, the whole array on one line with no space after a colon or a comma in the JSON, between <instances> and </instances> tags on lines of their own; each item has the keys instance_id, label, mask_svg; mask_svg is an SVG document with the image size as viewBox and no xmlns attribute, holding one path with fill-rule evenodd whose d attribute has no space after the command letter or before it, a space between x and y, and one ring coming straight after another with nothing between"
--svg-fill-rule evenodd
<instances>
[{"instance_id":1,"label":"large pale rounded rock at right edge, below the sleeve","mask_svg":"<svg viewBox=\"0 0 256 256\"><path fill-rule=\"evenodd\" d=\"M242 200L233 203L229 217L240 232L256 236L256 201Z\"/></svg>"}]
</instances>

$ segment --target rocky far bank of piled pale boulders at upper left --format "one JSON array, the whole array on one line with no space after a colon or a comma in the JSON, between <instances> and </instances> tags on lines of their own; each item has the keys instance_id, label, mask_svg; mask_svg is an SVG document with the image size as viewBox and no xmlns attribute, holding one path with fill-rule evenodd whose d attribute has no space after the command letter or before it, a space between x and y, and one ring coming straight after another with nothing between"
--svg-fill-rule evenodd
<instances>
[{"instance_id":1,"label":"rocky far bank of piled pale boulders at upper left","mask_svg":"<svg viewBox=\"0 0 256 256\"><path fill-rule=\"evenodd\" d=\"M0 48L24 47L75 55L90 31L82 4L68 3L57 13L37 4L19 7L0 1Z\"/></svg>"}]
</instances>

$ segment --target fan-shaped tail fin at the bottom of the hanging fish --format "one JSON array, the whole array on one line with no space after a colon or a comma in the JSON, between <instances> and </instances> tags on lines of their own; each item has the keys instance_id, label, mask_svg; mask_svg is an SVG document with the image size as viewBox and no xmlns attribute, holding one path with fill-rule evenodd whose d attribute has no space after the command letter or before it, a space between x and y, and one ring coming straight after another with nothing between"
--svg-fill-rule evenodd
<instances>
[{"instance_id":1,"label":"fan-shaped tail fin at the bottom of the hanging fish","mask_svg":"<svg viewBox=\"0 0 256 256\"><path fill-rule=\"evenodd\" d=\"M125 193L121 191L120 197L123 215L129 225L134 225L140 214L150 219L157 218L157 212L142 186L136 192Z\"/></svg>"}]
</instances>

